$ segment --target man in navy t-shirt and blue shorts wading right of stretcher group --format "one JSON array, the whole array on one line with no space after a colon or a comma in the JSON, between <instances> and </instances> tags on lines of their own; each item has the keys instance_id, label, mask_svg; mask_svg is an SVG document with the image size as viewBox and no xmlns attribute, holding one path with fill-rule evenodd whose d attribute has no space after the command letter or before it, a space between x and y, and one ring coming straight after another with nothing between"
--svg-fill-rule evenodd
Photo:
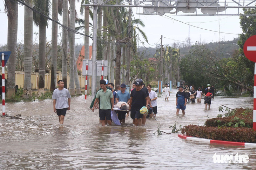
<instances>
[{"instance_id":1,"label":"man in navy t-shirt and blue shorts wading right of stretcher group","mask_svg":"<svg viewBox=\"0 0 256 170\"><path fill-rule=\"evenodd\" d=\"M185 97L185 91L183 90L183 86L178 87L178 92L176 94L176 115L178 115L178 112L182 111L182 114L185 114L185 109L187 105L187 98Z\"/></svg>"}]
</instances>

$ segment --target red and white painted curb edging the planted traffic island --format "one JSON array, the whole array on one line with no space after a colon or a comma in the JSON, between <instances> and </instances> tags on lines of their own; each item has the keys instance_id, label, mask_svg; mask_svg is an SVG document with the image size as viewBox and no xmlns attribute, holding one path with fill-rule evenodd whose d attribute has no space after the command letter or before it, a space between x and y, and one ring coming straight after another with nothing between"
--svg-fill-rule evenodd
<instances>
[{"instance_id":1,"label":"red and white painted curb edging the planted traffic island","mask_svg":"<svg viewBox=\"0 0 256 170\"><path fill-rule=\"evenodd\" d=\"M237 146L245 146L245 147L256 147L256 143L247 143L247 142L230 142L230 141L222 141L222 140L213 140L213 139L204 139L197 138L193 136L178 134L178 136L182 139L192 140L196 142L204 142L210 144L221 144L221 145L237 145Z\"/></svg>"}]
</instances>

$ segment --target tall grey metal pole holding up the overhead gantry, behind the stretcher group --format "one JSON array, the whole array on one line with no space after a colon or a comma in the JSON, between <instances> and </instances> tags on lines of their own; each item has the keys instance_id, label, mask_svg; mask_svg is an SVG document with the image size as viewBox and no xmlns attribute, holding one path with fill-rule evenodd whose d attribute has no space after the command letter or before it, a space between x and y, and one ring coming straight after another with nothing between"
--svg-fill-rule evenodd
<instances>
[{"instance_id":1,"label":"tall grey metal pole holding up the overhead gantry, behind the stretcher group","mask_svg":"<svg viewBox=\"0 0 256 170\"><path fill-rule=\"evenodd\" d=\"M97 4L97 0L94 0L94 5ZM97 6L93 7L93 70L92 70L92 101L96 96L96 77L97 77L97 64L96 64L96 54L97 54Z\"/></svg>"}]
</instances>

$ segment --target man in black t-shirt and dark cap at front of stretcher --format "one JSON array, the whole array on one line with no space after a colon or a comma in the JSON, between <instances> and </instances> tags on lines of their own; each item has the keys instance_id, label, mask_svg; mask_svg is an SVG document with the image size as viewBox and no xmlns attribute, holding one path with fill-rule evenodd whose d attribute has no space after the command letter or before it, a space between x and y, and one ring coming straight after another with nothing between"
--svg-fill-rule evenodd
<instances>
[{"instance_id":1,"label":"man in black t-shirt and dark cap at front of stretcher","mask_svg":"<svg viewBox=\"0 0 256 170\"><path fill-rule=\"evenodd\" d=\"M145 91L141 90L141 83L139 81L135 81L136 87L135 90L131 92L130 97L130 110L131 110L131 118L133 119L133 124L138 126L142 125L142 117L143 114L140 113L140 109L143 106L148 105L148 97ZM146 100L146 104L144 103Z\"/></svg>"}]
</instances>

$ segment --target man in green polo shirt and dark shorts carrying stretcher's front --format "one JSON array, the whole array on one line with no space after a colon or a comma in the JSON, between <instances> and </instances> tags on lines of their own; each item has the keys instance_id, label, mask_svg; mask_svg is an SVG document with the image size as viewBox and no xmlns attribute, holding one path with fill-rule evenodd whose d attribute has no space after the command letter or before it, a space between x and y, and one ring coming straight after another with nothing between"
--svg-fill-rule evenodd
<instances>
[{"instance_id":1,"label":"man in green polo shirt and dark shorts carrying stretcher's front","mask_svg":"<svg viewBox=\"0 0 256 170\"><path fill-rule=\"evenodd\" d=\"M92 111L94 112L95 105L99 101L101 101L99 116L100 120L107 119L107 123L111 126L111 110L114 108L114 98L111 90L106 88L106 81L100 80L100 87L96 94L96 99L93 104ZM110 102L111 101L111 102ZM105 126L105 121L101 121L102 126Z\"/></svg>"}]
</instances>

